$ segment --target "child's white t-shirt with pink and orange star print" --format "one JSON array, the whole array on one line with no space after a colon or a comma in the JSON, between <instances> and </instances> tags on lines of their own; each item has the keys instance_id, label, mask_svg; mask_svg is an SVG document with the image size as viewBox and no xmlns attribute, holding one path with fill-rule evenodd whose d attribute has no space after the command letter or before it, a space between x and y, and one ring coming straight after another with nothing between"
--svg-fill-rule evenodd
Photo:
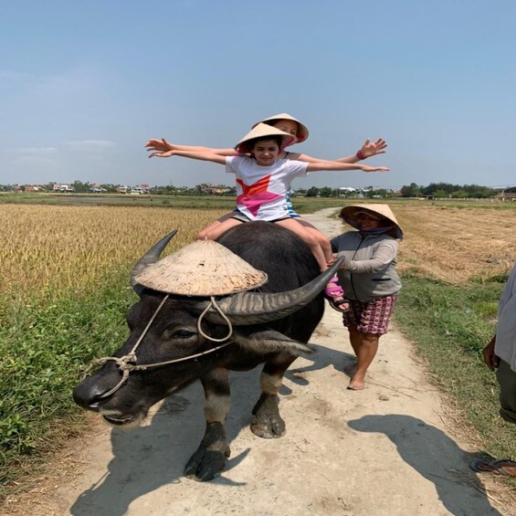
<instances>
[{"instance_id":1,"label":"child's white t-shirt with pink and orange star print","mask_svg":"<svg viewBox=\"0 0 516 516\"><path fill-rule=\"evenodd\" d=\"M287 195L295 177L306 177L308 163L278 160L258 165L247 156L227 156L226 172L237 175L237 207L251 220L289 216Z\"/></svg>"}]
</instances>

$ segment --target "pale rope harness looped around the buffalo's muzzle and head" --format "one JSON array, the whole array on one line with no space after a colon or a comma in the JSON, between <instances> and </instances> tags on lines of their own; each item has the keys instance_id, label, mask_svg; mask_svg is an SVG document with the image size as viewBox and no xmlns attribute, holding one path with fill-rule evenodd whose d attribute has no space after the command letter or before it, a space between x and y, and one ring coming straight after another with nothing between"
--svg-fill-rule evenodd
<instances>
[{"instance_id":1,"label":"pale rope harness looped around the buffalo's muzzle and head","mask_svg":"<svg viewBox=\"0 0 516 516\"><path fill-rule=\"evenodd\" d=\"M137 365L136 362L138 360L138 357L136 356L136 350L138 349L138 346L141 344L143 338L145 337L145 335L149 331L149 328L153 324L153 321L156 319L156 316L161 311L165 301L168 300L168 298L169 298L169 294L167 294L163 298L162 302L160 303L160 305L158 306L156 311L154 311L153 316L151 317L150 321L147 322L147 325L143 329L143 332L140 335L140 337L138 338L138 341L136 341L136 343L132 346L131 352L129 352L128 354L123 355L121 358L118 358L116 356L105 356L103 358L96 358L86 368L86 370L84 371L84 374L82 375L82 379L83 380L84 380L84 378L86 378L86 376L88 376L88 374L90 373L90 371L91 371L91 369L93 367L95 367L97 365L104 365L104 363L107 363L109 361L114 362L117 365L117 367L120 369L120 371L121 371L121 381L118 384L116 384L110 391L108 391L107 393L104 393L104 394L102 394L102 395L100 395L98 397L105 398L105 397L111 396L113 393L118 391L121 388L121 386L123 384L125 384L125 382L127 381L127 378L129 377L129 374L132 371L145 371L145 369L149 369L150 367L159 367L161 365L167 365L169 363L177 363L177 362L185 362L187 360L193 360L193 359L196 359L196 358L198 358L200 356L203 356L205 354L216 352L216 351L218 351L218 350L220 350L222 348L225 348L226 346L228 346L229 344L232 343L232 342L226 342L225 344L221 344L219 346L216 346L215 348L211 348L209 350L206 350L205 352L191 354L191 355L188 355L188 356L184 356L183 358L174 358L173 360L167 360L165 362L144 363L144 364L141 364L141 365ZM201 323L203 321L203 318L205 317L205 314L211 308L214 308L219 313L219 315L222 317L222 319L226 322L226 324L227 324L227 328L228 328L227 335L226 335L226 337L224 337L222 339L216 339L215 337L211 337L210 335L206 335L206 333L203 332L203 330L201 328ZM201 315L199 316L199 319L197 320L197 331L205 339L207 339L208 341L212 341L212 342L225 342L233 334L233 326L231 325L231 321L229 321L229 319L226 317L226 314L223 313L223 311L221 311L220 307L216 304L216 300L215 300L215 298L213 296L210 297L210 302L208 303L207 307L201 313Z\"/></svg>"}]
</instances>

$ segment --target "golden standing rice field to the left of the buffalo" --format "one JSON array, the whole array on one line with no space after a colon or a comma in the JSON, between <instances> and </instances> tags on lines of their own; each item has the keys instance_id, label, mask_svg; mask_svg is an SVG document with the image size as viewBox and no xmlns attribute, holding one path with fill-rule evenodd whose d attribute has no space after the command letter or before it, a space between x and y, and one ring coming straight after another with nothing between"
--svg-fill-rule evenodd
<instances>
[{"instance_id":1,"label":"golden standing rice field to the left of the buffalo","mask_svg":"<svg viewBox=\"0 0 516 516\"><path fill-rule=\"evenodd\" d=\"M172 229L163 256L192 242L220 210L133 206L0 205L0 294L92 290L129 269Z\"/></svg>"}]
</instances>

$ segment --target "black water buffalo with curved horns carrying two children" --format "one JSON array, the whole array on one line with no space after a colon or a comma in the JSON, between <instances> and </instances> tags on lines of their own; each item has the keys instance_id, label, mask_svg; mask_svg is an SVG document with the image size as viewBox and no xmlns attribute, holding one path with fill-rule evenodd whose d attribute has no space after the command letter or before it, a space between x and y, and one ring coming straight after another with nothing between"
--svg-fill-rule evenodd
<instances>
[{"instance_id":1,"label":"black water buffalo with curved horns carrying two children","mask_svg":"<svg viewBox=\"0 0 516 516\"><path fill-rule=\"evenodd\" d=\"M133 288L140 300L127 314L131 331L127 342L73 395L76 403L99 412L112 425L127 425L142 420L165 396L200 379L205 390L205 436L184 474L210 480L224 469L230 452L225 426L229 371L246 371L264 363L251 430L266 438L285 433L279 416L279 386L290 363L311 351L306 343L324 311L321 290L340 262L320 275L309 247L290 231L267 222L230 229L219 243L267 272L269 281L259 292L218 299L233 327L226 338L227 321L216 311L207 311L202 327L197 326L207 299L165 296L134 281L138 272L156 262L172 236L155 244L133 269ZM132 353L135 343L138 349Z\"/></svg>"}]
</instances>

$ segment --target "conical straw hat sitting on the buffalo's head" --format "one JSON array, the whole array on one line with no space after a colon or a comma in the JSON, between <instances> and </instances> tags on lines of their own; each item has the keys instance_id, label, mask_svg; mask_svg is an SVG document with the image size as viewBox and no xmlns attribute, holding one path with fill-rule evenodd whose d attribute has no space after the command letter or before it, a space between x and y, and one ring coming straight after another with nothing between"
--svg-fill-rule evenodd
<instances>
[{"instance_id":1,"label":"conical straw hat sitting on the buffalo's head","mask_svg":"<svg viewBox=\"0 0 516 516\"><path fill-rule=\"evenodd\" d=\"M135 280L168 294L206 297L257 289L268 277L213 240L196 240L143 269Z\"/></svg>"}]
</instances>

